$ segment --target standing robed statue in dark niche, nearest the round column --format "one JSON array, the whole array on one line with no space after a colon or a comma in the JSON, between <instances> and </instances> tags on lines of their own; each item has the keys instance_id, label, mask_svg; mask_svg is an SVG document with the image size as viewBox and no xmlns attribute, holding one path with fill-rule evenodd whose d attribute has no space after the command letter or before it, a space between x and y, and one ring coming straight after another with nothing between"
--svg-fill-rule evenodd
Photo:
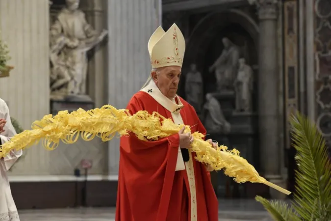
<instances>
[{"instance_id":1,"label":"standing robed statue in dark niche, nearest the round column","mask_svg":"<svg viewBox=\"0 0 331 221\"><path fill-rule=\"evenodd\" d=\"M239 59L237 78L234 81L235 109L238 112L252 111L253 70L245 58Z\"/></svg>"}]
</instances>

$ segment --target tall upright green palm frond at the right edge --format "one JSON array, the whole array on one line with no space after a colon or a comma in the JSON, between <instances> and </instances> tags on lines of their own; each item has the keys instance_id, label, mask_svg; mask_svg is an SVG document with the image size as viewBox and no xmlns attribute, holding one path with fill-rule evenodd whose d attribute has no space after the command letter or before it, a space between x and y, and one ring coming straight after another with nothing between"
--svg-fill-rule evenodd
<instances>
[{"instance_id":1,"label":"tall upright green palm frond at the right edge","mask_svg":"<svg viewBox=\"0 0 331 221\"><path fill-rule=\"evenodd\" d=\"M300 113L292 116L291 125L298 164L293 207L306 221L328 220L331 217L331 164L325 140L316 126Z\"/></svg>"}]
</instances>

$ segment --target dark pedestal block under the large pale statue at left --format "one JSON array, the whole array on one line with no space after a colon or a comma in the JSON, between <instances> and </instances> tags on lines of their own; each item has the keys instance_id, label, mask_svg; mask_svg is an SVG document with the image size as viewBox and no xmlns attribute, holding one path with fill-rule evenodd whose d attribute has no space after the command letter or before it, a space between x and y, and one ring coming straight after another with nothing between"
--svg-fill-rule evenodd
<instances>
[{"instance_id":1,"label":"dark pedestal block under the large pale statue at left","mask_svg":"<svg viewBox=\"0 0 331 221\"><path fill-rule=\"evenodd\" d=\"M90 109L94 109L93 101L74 101L74 100L51 100L51 114L55 115L58 111L66 111L69 112L77 111L77 109L84 109L88 111Z\"/></svg>"}]
</instances>

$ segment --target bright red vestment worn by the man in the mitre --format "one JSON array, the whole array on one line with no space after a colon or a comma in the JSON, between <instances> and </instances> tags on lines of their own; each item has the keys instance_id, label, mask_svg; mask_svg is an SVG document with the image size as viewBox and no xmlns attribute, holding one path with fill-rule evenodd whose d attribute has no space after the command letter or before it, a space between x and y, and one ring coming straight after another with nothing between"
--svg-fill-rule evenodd
<instances>
[{"instance_id":1,"label":"bright red vestment worn by the man in the mitre","mask_svg":"<svg viewBox=\"0 0 331 221\"><path fill-rule=\"evenodd\" d=\"M194 108L179 98L180 115L192 133L206 131ZM130 100L131 114L157 111L172 118L148 93L140 91ZM116 221L190 221L191 196L186 170L175 171L179 136L141 141L134 134L122 137L116 205ZM193 159L195 153L192 153ZM193 160L197 220L218 221L218 200L204 164Z\"/></svg>"}]
</instances>

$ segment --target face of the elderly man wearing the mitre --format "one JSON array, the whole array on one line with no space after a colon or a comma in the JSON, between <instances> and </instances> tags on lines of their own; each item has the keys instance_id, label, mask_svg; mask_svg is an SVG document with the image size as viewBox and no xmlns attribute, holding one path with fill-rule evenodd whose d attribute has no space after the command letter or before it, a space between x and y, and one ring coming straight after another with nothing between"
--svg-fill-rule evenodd
<instances>
[{"instance_id":1,"label":"face of the elderly man wearing the mitre","mask_svg":"<svg viewBox=\"0 0 331 221\"><path fill-rule=\"evenodd\" d=\"M169 99L176 96L180 75L181 67L178 66L162 67L157 72L152 72L155 84L162 94Z\"/></svg>"}]
</instances>

